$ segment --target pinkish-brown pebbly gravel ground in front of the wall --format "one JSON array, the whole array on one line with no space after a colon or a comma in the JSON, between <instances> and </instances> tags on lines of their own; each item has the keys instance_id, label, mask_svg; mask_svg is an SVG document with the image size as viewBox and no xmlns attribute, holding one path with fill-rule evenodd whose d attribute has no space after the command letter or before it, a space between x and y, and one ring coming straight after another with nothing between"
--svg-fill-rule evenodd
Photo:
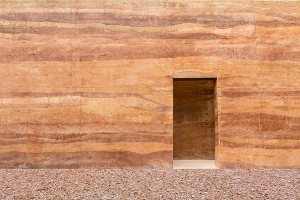
<instances>
[{"instance_id":1,"label":"pinkish-brown pebbly gravel ground in front of the wall","mask_svg":"<svg viewBox=\"0 0 300 200\"><path fill-rule=\"evenodd\" d=\"M0 199L300 199L298 169L0 169Z\"/></svg>"}]
</instances>

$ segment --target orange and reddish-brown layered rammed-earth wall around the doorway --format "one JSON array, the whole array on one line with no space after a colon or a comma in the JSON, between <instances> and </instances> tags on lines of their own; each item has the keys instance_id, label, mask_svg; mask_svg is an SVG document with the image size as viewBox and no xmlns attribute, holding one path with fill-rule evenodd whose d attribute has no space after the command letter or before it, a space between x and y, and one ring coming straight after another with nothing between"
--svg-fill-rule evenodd
<instances>
[{"instance_id":1,"label":"orange and reddish-brown layered rammed-earth wall around the doorway","mask_svg":"<svg viewBox=\"0 0 300 200\"><path fill-rule=\"evenodd\" d=\"M1 0L0 167L172 167L172 78L217 77L216 164L300 167L300 2Z\"/></svg>"}]
</instances>

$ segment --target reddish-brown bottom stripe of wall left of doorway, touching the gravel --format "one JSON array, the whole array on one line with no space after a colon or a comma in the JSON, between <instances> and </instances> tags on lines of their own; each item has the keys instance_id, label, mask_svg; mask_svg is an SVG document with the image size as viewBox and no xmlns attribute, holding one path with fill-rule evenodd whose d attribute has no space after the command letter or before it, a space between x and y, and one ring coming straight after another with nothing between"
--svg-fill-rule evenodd
<instances>
[{"instance_id":1,"label":"reddish-brown bottom stripe of wall left of doorway, touching the gravel","mask_svg":"<svg viewBox=\"0 0 300 200\"><path fill-rule=\"evenodd\" d=\"M128 151L1 153L2 168L170 168L172 151L139 154ZM15 159L17 157L17 159ZM79 161L79 159L81 161Z\"/></svg>"}]
</instances>

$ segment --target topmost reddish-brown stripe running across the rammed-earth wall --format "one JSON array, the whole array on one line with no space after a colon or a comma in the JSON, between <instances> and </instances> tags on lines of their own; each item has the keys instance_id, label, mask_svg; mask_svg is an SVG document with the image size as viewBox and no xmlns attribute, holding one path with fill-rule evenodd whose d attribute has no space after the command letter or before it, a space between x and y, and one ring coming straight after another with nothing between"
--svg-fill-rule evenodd
<instances>
[{"instance_id":1,"label":"topmost reddish-brown stripe running across the rammed-earth wall","mask_svg":"<svg viewBox=\"0 0 300 200\"><path fill-rule=\"evenodd\" d=\"M105 18L105 19L104 19ZM276 26L295 26L300 22L298 17L284 16L279 17L294 21L293 23L285 23L280 20L273 21L257 21L256 25L265 27ZM164 27L182 23L200 23L207 26L216 26L220 28L228 28L245 23L242 19L235 20L234 17L226 17L220 15L202 15L200 16L153 16L153 15L115 15L109 13L13 13L0 14L0 19L17 20L17 21L36 21L36 22L59 22L59 23L102 23L107 25L124 25L124 26L151 26ZM248 21L246 21L248 23Z\"/></svg>"}]
</instances>

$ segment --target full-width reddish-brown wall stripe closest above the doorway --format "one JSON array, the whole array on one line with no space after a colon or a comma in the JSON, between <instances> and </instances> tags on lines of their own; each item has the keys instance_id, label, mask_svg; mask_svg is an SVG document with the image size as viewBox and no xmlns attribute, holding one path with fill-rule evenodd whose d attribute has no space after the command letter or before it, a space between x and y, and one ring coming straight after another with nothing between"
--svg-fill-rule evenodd
<instances>
[{"instance_id":1,"label":"full-width reddish-brown wall stripe closest above the doorway","mask_svg":"<svg viewBox=\"0 0 300 200\"><path fill-rule=\"evenodd\" d=\"M252 45L252 44L251 44ZM143 46L143 47L142 47ZM77 51L63 55L47 55L47 54L28 54L28 55L2 55L0 56L0 62L21 62L21 61L106 61L106 60L120 60L120 59L154 59L154 58L171 58L171 57L182 57L182 56L221 56L221 57L234 57L237 59L244 59L244 53L247 54L246 59L249 60L291 60L300 61L300 52L296 51L283 51L282 48L278 48L276 52L263 52L256 53L254 45L242 49L236 49L240 52L234 52L233 46L191 46L191 45L140 45L133 48L133 52L128 52L127 47L108 46L107 51L103 51L100 54L94 55L90 53L80 53ZM144 52L136 50L145 49ZM119 53L115 54L114 52Z\"/></svg>"}]
</instances>

